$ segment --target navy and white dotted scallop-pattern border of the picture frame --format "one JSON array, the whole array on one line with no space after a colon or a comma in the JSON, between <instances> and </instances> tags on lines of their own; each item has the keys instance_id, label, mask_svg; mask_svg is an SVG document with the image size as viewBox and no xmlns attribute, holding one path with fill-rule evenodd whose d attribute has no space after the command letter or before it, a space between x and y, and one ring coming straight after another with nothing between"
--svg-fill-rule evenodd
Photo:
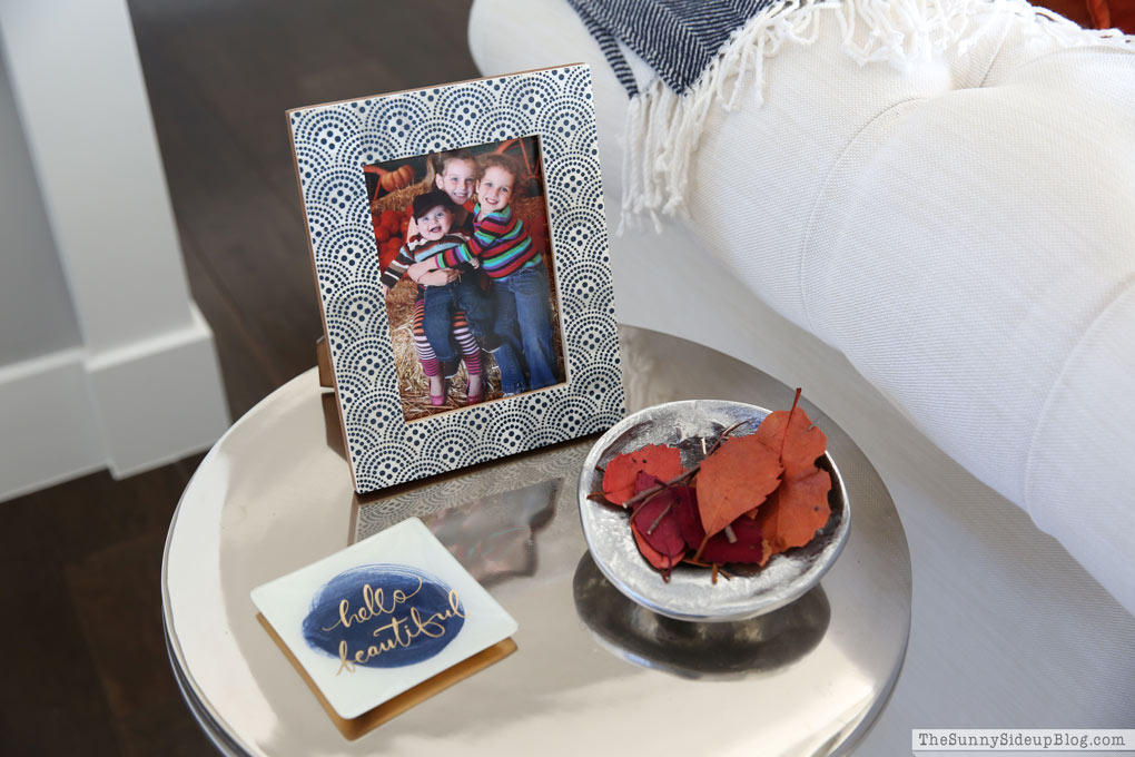
<instances>
[{"instance_id":1,"label":"navy and white dotted scallop-pattern border of the picture frame","mask_svg":"<svg viewBox=\"0 0 1135 757\"><path fill-rule=\"evenodd\" d=\"M603 431L624 414L591 74L546 68L287 112L360 494ZM565 384L403 419L363 166L538 136Z\"/></svg>"}]
</instances>

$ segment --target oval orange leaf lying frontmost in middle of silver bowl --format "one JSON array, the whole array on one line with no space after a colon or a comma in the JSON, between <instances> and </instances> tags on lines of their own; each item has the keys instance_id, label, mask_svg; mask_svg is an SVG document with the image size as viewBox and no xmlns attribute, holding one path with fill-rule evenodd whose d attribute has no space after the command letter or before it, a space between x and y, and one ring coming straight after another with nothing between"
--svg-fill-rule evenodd
<instances>
[{"instance_id":1,"label":"oval orange leaf lying frontmost in middle of silver bowl","mask_svg":"<svg viewBox=\"0 0 1135 757\"><path fill-rule=\"evenodd\" d=\"M780 483L776 453L756 436L726 439L701 461L698 472L698 510L706 537L758 506Z\"/></svg>"}]
</instances>

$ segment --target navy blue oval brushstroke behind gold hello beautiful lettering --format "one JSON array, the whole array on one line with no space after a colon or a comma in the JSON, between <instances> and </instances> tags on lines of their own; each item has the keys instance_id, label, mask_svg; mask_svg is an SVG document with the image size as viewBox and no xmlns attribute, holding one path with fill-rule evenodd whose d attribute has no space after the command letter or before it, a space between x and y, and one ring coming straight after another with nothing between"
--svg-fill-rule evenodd
<instances>
[{"instance_id":1,"label":"navy blue oval brushstroke behind gold hello beautiful lettering","mask_svg":"<svg viewBox=\"0 0 1135 757\"><path fill-rule=\"evenodd\" d=\"M376 606L377 614L373 617L352 621L350 626L344 628L339 603L343 599L350 600L351 613L364 607L363 590L367 586L375 594L381 589L381 604L392 612L380 612ZM393 607L394 592L398 590L410 598ZM451 609L449 587L440 579L406 565L360 565L339 573L316 592L311 609L303 621L303 638L312 649L333 657L339 657L339 641L346 640L347 648L353 654L393 639L390 630L382 630L382 626L387 626L394 619L401 619L400 628L405 638L406 630L414 629L412 608L417 608L421 619L429 619L438 613L446 614ZM367 667L403 667L434 657L456 638L464 625L464 607L460 603L459 611L460 615L437 620L445 628L443 634L431 638L419 633L406 646L396 646L359 664ZM376 630L379 631L378 636L375 634Z\"/></svg>"}]
</instances>

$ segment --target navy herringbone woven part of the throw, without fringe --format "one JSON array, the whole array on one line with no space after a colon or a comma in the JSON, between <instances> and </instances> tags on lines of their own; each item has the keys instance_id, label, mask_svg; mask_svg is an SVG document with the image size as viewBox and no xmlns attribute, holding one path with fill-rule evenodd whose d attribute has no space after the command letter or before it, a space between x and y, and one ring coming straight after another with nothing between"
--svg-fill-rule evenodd
<instances>
[{"instance_id":1,"label":"navy herringbone woven part of the throw, without fringe","mask_svg":"<svg viewBox=\"0 0 1135 757\"><path fill-rule=\"evenodd\" d=\"M684 94L730 35L773 0L568 0L630 96L638 94L616 41Z\"/></svg>"}]
</instances>

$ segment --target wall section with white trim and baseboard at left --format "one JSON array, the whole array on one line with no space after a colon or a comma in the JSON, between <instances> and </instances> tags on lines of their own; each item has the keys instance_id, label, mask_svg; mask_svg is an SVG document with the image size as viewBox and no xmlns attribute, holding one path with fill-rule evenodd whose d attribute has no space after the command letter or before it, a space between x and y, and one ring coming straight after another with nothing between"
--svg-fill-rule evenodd
<instances>
[{"instance_id":1,"label":"wall section with white trim and baseboard at left","mask_svg":"<svg viewBox=\"0 0 1135 757\"><path fill-rule=\"evenodd\" d=\"M2 499L170 462L228 413L125 0L0 0L0 52Z\"/></svg>"}]
</instances>

